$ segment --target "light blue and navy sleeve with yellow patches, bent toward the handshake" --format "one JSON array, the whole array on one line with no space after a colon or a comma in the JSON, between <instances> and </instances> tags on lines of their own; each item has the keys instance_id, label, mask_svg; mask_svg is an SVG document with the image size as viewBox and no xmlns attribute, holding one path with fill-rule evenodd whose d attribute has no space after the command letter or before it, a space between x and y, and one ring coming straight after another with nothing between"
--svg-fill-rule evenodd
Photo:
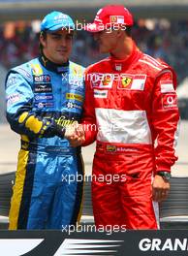
<instances>
[{"instance_id":1,"label":"light blue and navy sleeve with yellow patches, bent toward the handshake","mask_svg":"<svg viewBox=\"0 0 188 256\"><path fill-rule=\"evenodd\" d=\"M33 111L34 93L22 75L11 71L6 79L7 120L12 130L29 138L64 136L52 116Z\"/></svg>"}]
</instances>

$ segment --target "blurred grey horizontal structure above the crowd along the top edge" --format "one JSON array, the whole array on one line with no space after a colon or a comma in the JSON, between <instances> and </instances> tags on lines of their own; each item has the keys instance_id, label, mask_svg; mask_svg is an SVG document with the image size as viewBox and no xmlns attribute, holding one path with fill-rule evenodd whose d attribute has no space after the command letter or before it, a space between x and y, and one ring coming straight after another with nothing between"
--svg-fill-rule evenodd
<instances>
[{"instance_id":1,"label":"blurred grey horizontal structure above the crowd along the top edge","mask_svg":"<svg viewBox=\"0 0 188 256\"><path fill-rule=\"evenodd\" d=\"M106 4L123 4L129 7L136 18L168 17L172 19L186 18L188 0L0 0L0 21L17 20L18 18L35 19L45 16L49 10L63 10L72 16L90 18L96 9Z\"/></svg>"}]
</instances>

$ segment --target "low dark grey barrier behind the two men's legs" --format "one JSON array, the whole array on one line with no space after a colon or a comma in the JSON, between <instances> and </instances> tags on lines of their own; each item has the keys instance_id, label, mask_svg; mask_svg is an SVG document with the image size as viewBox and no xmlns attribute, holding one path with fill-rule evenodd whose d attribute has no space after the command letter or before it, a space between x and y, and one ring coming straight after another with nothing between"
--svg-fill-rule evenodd
<instances>
[{"instance_id":1,"label":"low dark grey barrier behind the two men's legs","mask_svg":"<svg viewBox=\"0 0 188 256\"><path fill-rule=\"evenodd\" d=\"M0 228L7 228L12 187L15 172L0 175ZM91 177L84 184L81 223L93 223L91 202ZM173 176L171 191L166 201L160 204L160 224L162 229L187 229L188 227L188 176Z\"/></svg>"}]
</instances>

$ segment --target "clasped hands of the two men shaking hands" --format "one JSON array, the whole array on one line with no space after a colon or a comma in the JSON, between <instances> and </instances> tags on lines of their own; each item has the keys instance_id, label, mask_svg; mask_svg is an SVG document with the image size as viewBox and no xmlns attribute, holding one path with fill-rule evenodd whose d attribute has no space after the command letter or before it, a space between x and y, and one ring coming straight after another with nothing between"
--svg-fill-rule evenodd
<instances>
[{"instance_id":1,"label":"clasped hands of the two men shaking hands","mask_svg":"<svg viewBox=\"0 0 188 256\"><path fill-rule=\"evenodd\" d=\"M77 147L84 143L85 133L81 124L78 121L74 121L72 124L65 127L64 138L69 140L73 147Z\"/></svg>"}]
</instances>

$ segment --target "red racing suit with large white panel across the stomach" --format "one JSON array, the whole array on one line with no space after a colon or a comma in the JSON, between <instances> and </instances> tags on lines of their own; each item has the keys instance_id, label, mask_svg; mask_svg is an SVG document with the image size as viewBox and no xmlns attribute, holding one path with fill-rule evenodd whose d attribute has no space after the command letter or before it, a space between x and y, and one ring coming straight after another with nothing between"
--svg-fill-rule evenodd
<instances>
[{"instance_id":1,"label":"red racing suit with large white panel across the stomach","mask_svg":"<svg viewBox=\"0 0 188 256\"><path fill-rule=\"evenodd\" d=\"M171 172L179 119L170 66L134 45L126 60L88 67L82 125L95 140L92 200L95 223L158 229L152 178Z\"/></svg>"}]
</instances>

